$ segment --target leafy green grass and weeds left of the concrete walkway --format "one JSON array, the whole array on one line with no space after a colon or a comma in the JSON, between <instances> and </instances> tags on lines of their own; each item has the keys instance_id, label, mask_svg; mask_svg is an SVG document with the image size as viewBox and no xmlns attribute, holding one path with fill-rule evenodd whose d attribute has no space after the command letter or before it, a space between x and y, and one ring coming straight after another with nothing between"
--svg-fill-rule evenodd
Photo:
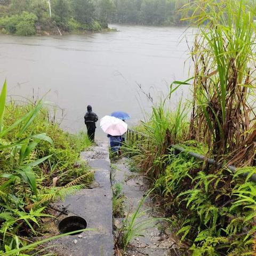
<instances>
[{"instance_id":1,"label":"leafy green grass and weeds left of the concrete walkway","mask_svg":"<svg viewBox=\"0 0 256 256\"><path fill-rule=\"evenodd\" d=\"M83 132L63 131L42 100L6 102L6 91L5 82L0 94L0 254L25 255L19 252L35 253L38 244L29 237L51 235L43 227L49 203L93 180L79 160L91 142Z\"/></svg>"}]
</instances>

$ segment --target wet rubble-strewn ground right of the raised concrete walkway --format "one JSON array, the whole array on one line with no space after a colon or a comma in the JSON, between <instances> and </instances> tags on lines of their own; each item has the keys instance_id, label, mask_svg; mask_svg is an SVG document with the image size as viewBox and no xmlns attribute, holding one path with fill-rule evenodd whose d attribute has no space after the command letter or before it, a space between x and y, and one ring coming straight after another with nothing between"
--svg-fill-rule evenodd
<instances>
[{"instance_id":1,"label":"wet rubble-strewn ground right of the raised concrete walkway","mask_svg":"<svg viewBox=\"0 0 256 256\"><path fill-rule=\"evenodd\" d=\"M121 183L123 193L126 197L125 212L134 212L140 200L147 193L145 180L137 173L130 172L127 167L127 159L119 159L114 163L115 172L112 173L113 183ZM113 172L113 171L112 171ZM163 217L161 213L157 212L151 198L148 197L140 212L148 210L145 215L137 219L138 222L147 220L149 218ZM178 249L172 235L167 235L159 227L162 225L161 220L154 220L147 226L147 229L141 233L140 237L134 238L126 252L127 256L177 256ZM114 220L114 226L122 226L122 218Z\"/></svg>"}]
</instances>

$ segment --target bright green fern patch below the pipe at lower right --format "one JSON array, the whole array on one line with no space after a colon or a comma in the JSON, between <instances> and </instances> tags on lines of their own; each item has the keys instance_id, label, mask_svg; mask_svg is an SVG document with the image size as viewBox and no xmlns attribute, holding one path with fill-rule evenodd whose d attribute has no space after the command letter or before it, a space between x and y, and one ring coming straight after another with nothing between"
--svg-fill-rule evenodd
<instances>
[{"instance_id":1,"label":"bright green fern patch below the pipe at lower right","mask_svg":"<svg viewBox=\"0 0 256 256\"><path fill-rule=\"evenodd\" d=\"M168 198L168 217L193 255L253 254L255 183L180 154L155 186Z\"/></svg>"}]
</instances>

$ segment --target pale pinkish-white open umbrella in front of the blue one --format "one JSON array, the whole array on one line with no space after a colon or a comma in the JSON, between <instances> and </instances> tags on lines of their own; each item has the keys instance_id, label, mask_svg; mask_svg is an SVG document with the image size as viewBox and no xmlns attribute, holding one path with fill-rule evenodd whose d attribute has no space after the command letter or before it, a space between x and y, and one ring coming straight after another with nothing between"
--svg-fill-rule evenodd
<instances>
[{"instance_id":1,"label":"pale pinkish-white open umbrella in front of the blue one","mask_svg":"<svg viewBox=\"0 0 256 256\"><path fill-rule=\"evenodd\" d=\"M120 136L127 132L127 124L114 116L104 116L100 119L103 132L112 136Z\"/></svg>"}]
</instances>

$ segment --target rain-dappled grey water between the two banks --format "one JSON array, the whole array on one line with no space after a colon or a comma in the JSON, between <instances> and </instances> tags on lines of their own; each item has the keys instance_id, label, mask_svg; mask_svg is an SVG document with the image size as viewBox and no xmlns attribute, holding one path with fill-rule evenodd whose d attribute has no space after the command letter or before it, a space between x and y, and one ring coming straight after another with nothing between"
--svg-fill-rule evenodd
<instances>
[{"instance_id":1,"label":"rain-dappled grey water between the two banks","mask_svg":"<svg viewBox=\"0 0 256 256\"><path fill-rule=\"evenodd\" d=\"M151 103L167 95L172 81L186 79L192 31L181 27L111 25L117 31L86 35L0 36L0 83L9 95L42 97L64 110L62 127L84 129L86 106L103 117L123 110L138 123ZM186 37L185 37L186 34ZM186 63L185 63L186 61ZM139 89L141 85L141 89ZM171 107L188 87L175 92ZM19 95L19 97L17 96ZM22 97L20 97L22 96ZM99 124L98 124L99 126ZM103 133L97 130L98 136Z\"/></svg>"}]
</instances>

